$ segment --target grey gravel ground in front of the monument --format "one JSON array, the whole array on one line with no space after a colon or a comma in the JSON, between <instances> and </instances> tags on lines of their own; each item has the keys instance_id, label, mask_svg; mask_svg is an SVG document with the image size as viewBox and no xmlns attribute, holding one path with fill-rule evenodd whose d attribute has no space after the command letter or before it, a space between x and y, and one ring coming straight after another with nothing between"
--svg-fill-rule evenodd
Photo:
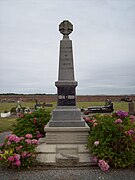
<instances>
[{"instance_id":1,"label":"grey gravel ground in front of the monument","mask_svg":"<svg viewBox=\"0 0 135 180\"><path fill-rule=\"evenodd\" d=\"M5 135L0 133L0 143ZM130 169L113 169L102 172L98 167L45 167L27 170L10 170L0 166L0 180L135 180L135 167Z\"/></svg>"}]
</instances>

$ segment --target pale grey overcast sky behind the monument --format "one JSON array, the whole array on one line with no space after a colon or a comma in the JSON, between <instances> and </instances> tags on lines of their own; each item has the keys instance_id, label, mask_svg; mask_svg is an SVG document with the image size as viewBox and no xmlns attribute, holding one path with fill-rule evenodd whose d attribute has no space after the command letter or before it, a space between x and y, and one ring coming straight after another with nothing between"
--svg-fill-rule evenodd
<instances>
[{"instance_id":1,"label":"pale grey overcast sky behind the monument","mask_svg":"<svg viewBox=\"0 0 135 180\"><path fill-rule=\"evenodd\" d=\"M56 93L63 20L77 94L135 94L135 0L0 0L0 93Z\"/></svg>"}]
</instances>

